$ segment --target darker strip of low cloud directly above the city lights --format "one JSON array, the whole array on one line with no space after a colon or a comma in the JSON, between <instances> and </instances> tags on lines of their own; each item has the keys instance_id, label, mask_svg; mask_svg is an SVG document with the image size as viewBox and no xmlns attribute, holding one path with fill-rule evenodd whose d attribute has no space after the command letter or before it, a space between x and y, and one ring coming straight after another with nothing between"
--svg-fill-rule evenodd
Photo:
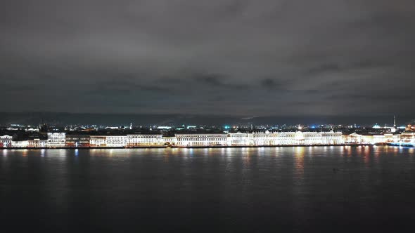
<instances>
[{"instance_id":1,"label":"darker strip of low cloud directly above the city lights","mask_svg":"<svg viewBox=\"0 0 415 233\"><path fill-rule=\"evenodd\" d=\"M395 116L395 117L394 117ZM53 125L102 125L129 126L134 125L353 125L392 126L396 119L397 126L414 124L414 115L381 115L381 116L232 116L203 114L76 114L53 112L18 112L0 113L0 126L8 124L37 125L41 123Z\"/></svg>"}]
</instances>

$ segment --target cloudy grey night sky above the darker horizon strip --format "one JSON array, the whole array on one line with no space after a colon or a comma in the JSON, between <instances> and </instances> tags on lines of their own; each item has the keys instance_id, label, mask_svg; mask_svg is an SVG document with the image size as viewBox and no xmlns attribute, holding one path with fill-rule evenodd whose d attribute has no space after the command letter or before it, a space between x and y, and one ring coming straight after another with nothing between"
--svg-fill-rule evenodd
<instances>
[{"instance_id":1,"label":"cloudy grey night sky above the darker horizon strip","mask_svg":"<svg viewBox=\"0 0 415 233\"><path fill-rule=\"evenodd\" d=\"M415 114L414 0L2 0L0 112Z\"/></svg>"}]
</instances>

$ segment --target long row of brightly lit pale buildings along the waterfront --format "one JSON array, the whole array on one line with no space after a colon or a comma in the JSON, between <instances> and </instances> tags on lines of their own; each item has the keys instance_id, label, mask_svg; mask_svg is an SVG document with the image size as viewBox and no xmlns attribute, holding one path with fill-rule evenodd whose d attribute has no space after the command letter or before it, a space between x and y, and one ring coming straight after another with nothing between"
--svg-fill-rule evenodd
<instances>
[{"instance_id":1,"label":"long row of brightly lit pale buildings along the waterfront","mask_svg":"<svg viewBox=\"0 0 415 233\"><path fill-rule=\"evenodd\" d=\"M127 135L47 133L47 139L13 140L0 136L0 148L278 147L312 145L415 145L415 133L360 135L341 132L252 132Z\"/></svg>"}]
</instances>

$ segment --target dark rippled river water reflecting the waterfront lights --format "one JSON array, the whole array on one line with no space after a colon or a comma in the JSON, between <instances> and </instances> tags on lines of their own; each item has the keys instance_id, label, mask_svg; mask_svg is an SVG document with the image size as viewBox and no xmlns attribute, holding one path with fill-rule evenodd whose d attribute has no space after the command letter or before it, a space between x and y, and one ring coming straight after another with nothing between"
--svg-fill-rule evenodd
<instances>
[{"instance_id":1,"label":"dark rippled river water reflecting the waterfront lights","mask_svg":"<svg viewBox=\"0 0 415 233\"><path fill-rule=\"evenodd\" d=\"M1 232L415 230L415 149L0 150Z\"/></svg>"}]
</instances>

